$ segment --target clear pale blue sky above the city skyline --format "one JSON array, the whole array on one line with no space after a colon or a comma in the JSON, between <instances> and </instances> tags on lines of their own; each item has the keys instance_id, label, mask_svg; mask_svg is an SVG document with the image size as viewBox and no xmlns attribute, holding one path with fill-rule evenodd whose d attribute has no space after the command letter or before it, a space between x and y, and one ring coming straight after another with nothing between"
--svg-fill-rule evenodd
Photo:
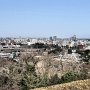
<instances>
[{"instance_id":1,"label":"clear pale blue sky above the city skyline","mask_svg":"<svg viewBox=\"0 0 90 90\"><path fill-rule=\"evenodd\" d=\"M90 0L0 0L0 37L90 38Z\"/></svg>"}]
</instances>

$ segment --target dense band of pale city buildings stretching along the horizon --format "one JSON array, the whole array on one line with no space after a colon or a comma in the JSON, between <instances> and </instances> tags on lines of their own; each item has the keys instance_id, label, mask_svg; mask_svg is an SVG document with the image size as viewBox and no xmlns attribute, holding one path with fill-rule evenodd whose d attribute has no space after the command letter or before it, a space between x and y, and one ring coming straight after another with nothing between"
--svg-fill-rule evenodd
<instances>
[{"instance_id":1,"label":"dense band of pale city buildings stretching along the horizon","mask_svg":"<svg viewBox=\"0 0 90 90\"><path fill-rule=\"evenodd\" d=\"M77 39L76 35L65 39L57 38L57 36L51 36L50 38L0 38L0 48L19 48L20 45L32 45L35 43L68 47L78 46L80 49L84 49L89 46L90 41L88 39Z\"/></svg>"}]
</instances>

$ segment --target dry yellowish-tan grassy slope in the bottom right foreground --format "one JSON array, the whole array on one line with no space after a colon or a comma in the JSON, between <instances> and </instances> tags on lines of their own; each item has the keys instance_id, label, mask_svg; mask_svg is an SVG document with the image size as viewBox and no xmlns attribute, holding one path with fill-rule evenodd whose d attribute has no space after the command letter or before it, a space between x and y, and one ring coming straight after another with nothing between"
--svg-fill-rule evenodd
<instances>
[{"instance_id":1,"label":"dry yellowish-tan grassy slope in the bottom right foreground","mask_svg":"<svg viewBox=\"0 0 90 90\"><path fill-rule=\"evenodd\" d=\"M34 90L90 90L90 79L38 88Z\"/></svg>"}]
</instances>

